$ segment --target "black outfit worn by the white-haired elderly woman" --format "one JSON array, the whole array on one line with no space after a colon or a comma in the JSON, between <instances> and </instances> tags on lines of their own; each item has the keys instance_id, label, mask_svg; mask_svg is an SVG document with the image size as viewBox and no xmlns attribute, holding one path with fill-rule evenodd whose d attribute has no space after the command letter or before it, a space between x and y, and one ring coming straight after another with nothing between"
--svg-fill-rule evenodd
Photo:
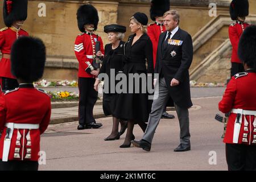
<instances>
[{"instance_id":1,"label":"black outfit worn by the white-haired elderly woman","mask_svg":"<svg viewBox=\"0 0 256 182\"><path fill-rule=\"evenodd\" d=\"M112 49L112 44L106 44L105 46L105 57L100 69L100 73L106 73L108 75L108 80L104 80L104 93L103 93L103 101L102 107L105 115L112 115L114 102L115 102L115 89L111 88L111 86L115 86L110 80L110 69L114 69L114 77L115 75L122 70L122 56L123 56L123 47L125 42L120 41L119 46L115 49ZM108 85L107 85L108 84Z\"/></svg>"}]
</instances>

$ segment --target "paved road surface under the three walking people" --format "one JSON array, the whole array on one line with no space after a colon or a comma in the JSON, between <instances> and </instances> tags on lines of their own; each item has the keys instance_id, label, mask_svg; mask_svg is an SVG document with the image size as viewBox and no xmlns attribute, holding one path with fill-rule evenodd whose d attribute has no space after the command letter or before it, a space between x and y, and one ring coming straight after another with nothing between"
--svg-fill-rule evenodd
<instances>
[{"instance_id":1,"label":"paved road surface under the three walking people","mask_svg":"<svg viewBox=\"0 0 256 182\"><path fill-rule=\"evenodd\" d=\"M112 129L112 118L99 118L100 129L76 130L77 122L51 125L43 135L41 150L46 151L46 165L40 170L226 170L221 123L214 121L224 88L192 89L193 104L189 111L192 150L173 152L179 144L179 122L162 119L152 143L151 152L141 148L119 148L120 140L104 141ZM208 98L210 96L215 96ZM217 96L217 97L216 97ZM205 97L205 98L201 98ZM175 111L169 113L176 116ZM142 131L134 128L136 139ZM216 154L216 165L210 165L209 152ZM216 152L216 153L215 153Z\"/></svg>"}]
</instances>

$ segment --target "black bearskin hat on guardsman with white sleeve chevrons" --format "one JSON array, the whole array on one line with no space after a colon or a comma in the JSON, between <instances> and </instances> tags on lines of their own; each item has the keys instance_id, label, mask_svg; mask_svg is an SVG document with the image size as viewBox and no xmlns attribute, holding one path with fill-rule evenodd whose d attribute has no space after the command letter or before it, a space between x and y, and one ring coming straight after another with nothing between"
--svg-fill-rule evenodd
<instances>
[{"instance_id":1,"label":"black bearskin hat on guardsman with white sleeve chevrons","mask_svg":"<svg viewBox=\"0 0 256 182\"><path fill-rule=\"evenodd\" d=\"M94 30L98 27L98 11L92 5L82 5L77 10L77 24L81 32L85 32L85 24L94 24Z\"/></svg>"}]
</instances>

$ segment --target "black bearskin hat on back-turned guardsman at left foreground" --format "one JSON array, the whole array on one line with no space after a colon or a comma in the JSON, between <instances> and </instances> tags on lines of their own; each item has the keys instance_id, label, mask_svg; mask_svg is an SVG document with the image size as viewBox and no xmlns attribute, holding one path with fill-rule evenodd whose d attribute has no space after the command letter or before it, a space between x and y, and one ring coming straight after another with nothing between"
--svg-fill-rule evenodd
<instances>
[{"instance_id":1,"label":"black bearskin hat on back-turned guardsman at left foreground","mask_svg":"<svg viewBox=\"0 0 256 182\"><path fill-rule=\"evenodd\" d=\"M27 82L43 76L46 47L42 40L30 36L18 38L11 47L11 73Z\"/></svg>"}]
</instances>

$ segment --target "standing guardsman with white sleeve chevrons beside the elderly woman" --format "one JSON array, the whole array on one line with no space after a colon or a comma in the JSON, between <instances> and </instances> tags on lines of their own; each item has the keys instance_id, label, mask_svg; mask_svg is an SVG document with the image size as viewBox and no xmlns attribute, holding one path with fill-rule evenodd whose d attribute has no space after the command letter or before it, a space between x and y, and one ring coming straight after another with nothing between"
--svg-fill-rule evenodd
<instances>
[{"instance_id":1,"label":"standing guardsman with white sleeve chevrons beside the elderly woman","mask_svg":"<svg viewBox=\"0 0 256 182\"><path fill-rule=\"evenodd\" d=\"M104 57L103 42L100 36L93 34L98 26L98 12L92 5L82 5L77 10L77 22L82 32L75 41L75 55L79 61L79 126L82 129L97 129L102 126L93 118L93 107L98 98L94 90L94 82L98 76L99 67L96 61ZM100 43L96 52L96 44Z\"/></svg>"}]
</instances>

